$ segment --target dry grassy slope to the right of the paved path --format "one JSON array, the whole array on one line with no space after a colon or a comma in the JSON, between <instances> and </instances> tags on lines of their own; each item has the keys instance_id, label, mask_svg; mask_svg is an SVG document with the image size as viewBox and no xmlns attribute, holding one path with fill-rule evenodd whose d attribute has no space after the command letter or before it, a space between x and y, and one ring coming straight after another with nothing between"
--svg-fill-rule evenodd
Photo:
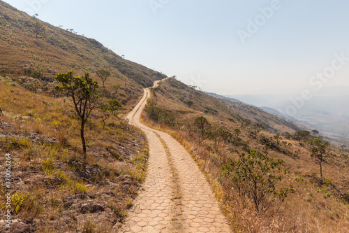
<instances>
[{"instance_id":1,"label":"dry grassy slope to the right of the paved path","mask_svg":"<svg viewBox=\"0 0 349 233\"><path fill-rule=\"evenodd\" d=\"M311 157L316 136L292 123L238 101L210 97L174 78L163 81L152 93L154 102L145 108L144 122L172 134L193 155L233 232L348 232L348 152L328 146L320 177L319 164ZM195 125L201 116L210 124L203 131ZM265 129L255 132L258 123ZM226 140L225 130L230 132ZM252 197L239 192L244 186L237 185L240 181L253 187L244 183L247 178L237 178L237 171L244 171L237 168L242 154L252 150L274 162L283 160L281 169L275 171L281 181L269 186L279 191L265 195L261 202L269 208L265 212L256 211ZM265 174L266 182L271 175L271 171Z\"/></svg>"}]
</instances>

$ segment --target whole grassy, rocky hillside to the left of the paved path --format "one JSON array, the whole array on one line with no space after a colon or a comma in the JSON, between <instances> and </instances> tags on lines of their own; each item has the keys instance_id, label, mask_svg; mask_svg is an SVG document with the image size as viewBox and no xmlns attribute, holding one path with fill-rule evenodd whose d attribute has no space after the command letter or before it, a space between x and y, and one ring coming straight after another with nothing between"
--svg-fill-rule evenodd
<instances>
[{"instance_id":1,"label":"whole grassy, rocky hillside to the left of the paved path","mask_svg":"<svg viewBox=\"0 0 349 233\"><path fill-rule=\"evenodd\" d=\"M148 147L117 111L105 118L103 106L118 99L128 112L165 76L3 1L0 54L0 176L10 162L13 190L6 199L1 179L0 232L117 232L146 176ZM111 73L105 88L98 69ZM86 154L73 99L54 88L57 73L68 70L100 84L84 127Z\"/></svg>"}]
</instances>

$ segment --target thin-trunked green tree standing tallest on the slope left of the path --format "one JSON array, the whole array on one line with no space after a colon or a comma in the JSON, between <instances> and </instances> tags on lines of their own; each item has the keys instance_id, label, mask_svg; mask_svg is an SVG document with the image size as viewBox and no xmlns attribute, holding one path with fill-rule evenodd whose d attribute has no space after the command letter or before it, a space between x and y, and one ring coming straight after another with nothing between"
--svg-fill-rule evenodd
<instances>
[{"instance_id":1,"label":"thin-trunked green tree standing tallest on the slope left of the path","mask_svg":"<svg viewBox=\"0 0 349 233\"><path fill-rule=\"evenodd\" d=\"M81 120L80 136L82 141L82 150L86 160L86 143L84 139L84 125L89 118L91 111L96 108L98 83L89 77L89 73L84 76L73 76L73 71L68 73L59 73L56 80L60 85L56 85L56 90L65 92L72 99L75 111Z\"/></svg>"}]
</instances>

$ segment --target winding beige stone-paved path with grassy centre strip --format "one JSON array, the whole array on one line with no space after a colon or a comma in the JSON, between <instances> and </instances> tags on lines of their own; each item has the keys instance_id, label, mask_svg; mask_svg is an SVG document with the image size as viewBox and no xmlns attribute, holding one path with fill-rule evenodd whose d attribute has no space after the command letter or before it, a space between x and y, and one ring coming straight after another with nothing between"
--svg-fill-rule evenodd
<instances>
[{"instance_id":1,"label":"winding beige stone-paved path with grassy centre strip","mask_svg":"<svg viewBox=\"0 0 349 233\"><path fill-rule=\"evenodd\" d=\"M156 81L154 87L161 81ZM149 142L149 167L121 232L230 232L205 176L170 135L140 122L149 88L128 118Z\"/></svg>"}]
</instances>

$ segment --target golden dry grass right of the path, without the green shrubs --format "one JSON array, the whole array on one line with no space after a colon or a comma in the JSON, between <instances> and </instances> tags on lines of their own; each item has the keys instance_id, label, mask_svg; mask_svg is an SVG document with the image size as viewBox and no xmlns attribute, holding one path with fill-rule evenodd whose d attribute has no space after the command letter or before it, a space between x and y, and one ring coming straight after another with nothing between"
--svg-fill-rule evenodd
<instances>
[{"instance_id":1,"label":"golden dry grass right of the path, without the green shrubs","mask_svg":"<svg viewBox=\"0 0 349 233\"><path fill-rule=\"evenodd\" d=\"M283 138L282 141L286 141L287 145L288 143L292 144L292 146L287 146L291 155L284 155L276 150L265 148L259 141L261 134L268 139L274 134L262 131L258 138L254 139L249 134L248 127L244 127L240 137L248 142L251 149L266 150L269 157L281 158L285 161L282 182L279 183L278 187L292 188L292 192L288 193L285 201L276 204L272 211L269 211L269 214L256 213L254 207L251 204L246 204L244 200L239 198L237 191L232 189L232 181L220 175L221 166L229 163L230 160L237 160L237 155L245 152L244 148L226 145L221 146L217 153L208 152L206 148L207 146L213 148L213 142L205 140L199 146L197 134L185 130L184 127L184 124L192 124L195 117L205 115L210 122L218 121L229 129L241 129L237 118L234 118L233 121L227 121L226 114L229 110L222 109L222 112L217 111L214 114L200 111L203 109L202 106L211 106L209 103L214 102L214 100L208 100L210 97L205 97L205 101L195 99L195 109L188 110L188 106L181 104L181 101L176 99L177 95L188 97L190 94L194 96L195 92L187 91L185 88L176 89L171 86L171 83L163 85L165 87L159 87L155 92L156 97L152 98L159 107L175 115L177 124L174 127L156 125L145 115L142 116L142 120L151 127L168 132L191 153L200 169L207 176L217 199L221 202L221 208L227 216L233 232L349 232L349 205L336 191L337 189L341 190L342 193L349 192L347 153L334 147L329 148L331 156L327 157L324 165L324 176L332 181L335 189L332 185L319 182L319 167L310 157L311 145L309 143L299 143ZM171 91L166 92L167 90ZM170 94L172 94L171 98ZM169 102L172 104L168 104ZM219 108L223 107L219 106ZM251 110L251 108L249 109ZM273 124L276 122L274 121ZM290 130L285 125L273 126L274 128ZM295 157L297 150L299 153Z\"/></svg>"}]
</instances>

